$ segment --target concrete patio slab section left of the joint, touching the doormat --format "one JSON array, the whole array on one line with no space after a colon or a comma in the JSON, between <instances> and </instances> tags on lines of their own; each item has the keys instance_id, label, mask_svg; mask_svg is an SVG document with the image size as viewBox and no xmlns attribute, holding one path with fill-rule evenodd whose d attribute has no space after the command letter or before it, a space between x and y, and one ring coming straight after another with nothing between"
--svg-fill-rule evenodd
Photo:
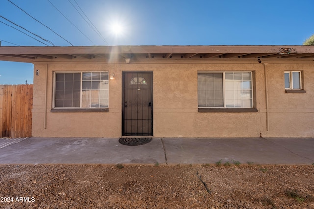
<instances>
[{"instance_id":1,"label":"concrete patio slab section left of the joint, touching the doormat","mask_svg":"<svg viewBox=\"0 0 314 209\"><path fill-rule=\"evenodd\" d=\"M160 139L126 146L117 138L27 138L0 150L0 164L165 163Z\"/></svg>"}]
</instances>

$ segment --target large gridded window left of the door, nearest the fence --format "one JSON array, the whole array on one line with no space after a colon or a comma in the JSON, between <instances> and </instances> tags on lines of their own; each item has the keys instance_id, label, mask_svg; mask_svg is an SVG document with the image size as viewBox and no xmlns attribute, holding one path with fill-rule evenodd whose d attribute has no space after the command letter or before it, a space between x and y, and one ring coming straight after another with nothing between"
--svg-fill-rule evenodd
<instances>
[{"instance_id":1,"label":"large gridded window left of the door, nearest the fence","mask_svg":"<svg viewBox=\"0 0 314 209\"><path fill-rule=\"evenodd\" d=\"M108 72L55 72L54 108L108 108Z\"/></svg>"}]
</instances>

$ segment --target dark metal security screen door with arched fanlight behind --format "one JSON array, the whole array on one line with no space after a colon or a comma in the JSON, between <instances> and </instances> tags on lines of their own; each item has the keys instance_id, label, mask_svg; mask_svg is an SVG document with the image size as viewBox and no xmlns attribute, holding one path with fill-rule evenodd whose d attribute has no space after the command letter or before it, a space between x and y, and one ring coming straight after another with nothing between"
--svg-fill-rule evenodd
<instances>
[{"instance_id":1,"label":"dark metal security screen door with arched fanlight behind","mask_svg":"<svg viewBox=\"0 0 314 209\"><path fill-rule=\"evenodd\" d=\"M122 135L153 135L153 73L124 72Z\"/></svg>"}]
</instances>

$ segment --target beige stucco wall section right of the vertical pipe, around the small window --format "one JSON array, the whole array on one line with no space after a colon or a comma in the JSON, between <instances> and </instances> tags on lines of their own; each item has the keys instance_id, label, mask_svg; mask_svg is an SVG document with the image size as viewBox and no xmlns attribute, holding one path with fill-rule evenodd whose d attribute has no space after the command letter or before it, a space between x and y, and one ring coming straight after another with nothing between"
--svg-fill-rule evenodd
<instances>
[{"instance_id":1,"label":"beige stucco wall section right of the vertical pipe, around the small window","mask_svg":"<svg viewBox=\"0 0 314 209\"><path fill-rule=\"evenodd\" d=\"M285 93L284 71L301 70L304 94ZM269 64L269 137L314 137L314 64Z\"/></svg>"}]
</instances>

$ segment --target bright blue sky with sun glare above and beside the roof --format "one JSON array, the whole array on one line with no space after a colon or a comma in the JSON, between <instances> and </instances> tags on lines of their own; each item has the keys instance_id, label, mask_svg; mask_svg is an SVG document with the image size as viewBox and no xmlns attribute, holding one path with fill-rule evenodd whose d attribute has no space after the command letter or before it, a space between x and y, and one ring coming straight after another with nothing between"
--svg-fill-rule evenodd
<instances>
[{"instance_id":1,"label":"bright blue sky with sun glare above and beside the roof","mask_svg":"<svg viewBox=\"0 0 314 209\"><path fill-rule=\"evenodd\" d=\"M0 17L2 46L302 45L314 33L313 0L10 1L0 0L0 15L49 42ZM0 61L0 84L26 80L33 82L32 64Z\"/></svg>"}]
</instances>

